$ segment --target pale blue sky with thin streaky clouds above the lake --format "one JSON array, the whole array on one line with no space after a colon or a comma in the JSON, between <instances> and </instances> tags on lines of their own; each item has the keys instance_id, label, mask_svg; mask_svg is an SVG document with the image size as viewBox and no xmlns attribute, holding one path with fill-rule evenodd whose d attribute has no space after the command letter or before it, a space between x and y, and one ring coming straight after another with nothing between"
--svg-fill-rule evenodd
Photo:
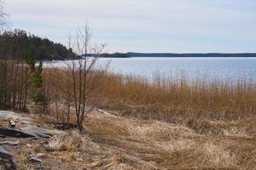
<instances>
[{"instance_id":1,"label":"pale blue sky with thin streaky clouds above the lake","mask_svg":"<svg viewBox=\"0 0 256 170\"><path fill-rule=\"evenodd\" d=\"M12 28L67 44L90 23L106 51L256 52L255 0L5 0Z\"/></svg>"}]
</instances>

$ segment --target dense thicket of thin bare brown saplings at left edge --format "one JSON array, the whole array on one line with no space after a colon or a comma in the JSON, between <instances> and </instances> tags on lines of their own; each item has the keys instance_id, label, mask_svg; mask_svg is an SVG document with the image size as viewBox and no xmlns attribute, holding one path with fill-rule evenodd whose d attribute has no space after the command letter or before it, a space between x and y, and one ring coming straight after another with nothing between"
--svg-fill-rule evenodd
<instances>
[{"instance_id":1,"label":"dense thicket of thin bare brown saplings at left edge","mask_svg":"<svg viewBox=\"0 0 256 170\"><path fill-rule=\"evenodd\" d=\"M0 60L0 109L27 111L28 71L22 59Z\"/></svg>"}]
</instances>

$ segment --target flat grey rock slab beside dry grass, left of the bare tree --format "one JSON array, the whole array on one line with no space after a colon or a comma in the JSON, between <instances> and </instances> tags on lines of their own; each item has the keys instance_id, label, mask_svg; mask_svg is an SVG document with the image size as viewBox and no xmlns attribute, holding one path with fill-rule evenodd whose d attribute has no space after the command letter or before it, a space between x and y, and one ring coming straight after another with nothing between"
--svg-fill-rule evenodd
<instances>
[{"instance_id":1,"label":"flat grey rock slab beside dry grass, left of the bare tree","mask_svg":"<svg viewBox=\"0 0 256 170\"><path fill-rule=\"evenodd\" d=\"M39 138L44 138L44 139L49 139L52 137L54 134L49 132L49 130L46 130L41 127L36 127L36 126L27 126L21 128L21 131L23 133L28 133L32 136L39 137Z\"/></svg>"}]
</instances>

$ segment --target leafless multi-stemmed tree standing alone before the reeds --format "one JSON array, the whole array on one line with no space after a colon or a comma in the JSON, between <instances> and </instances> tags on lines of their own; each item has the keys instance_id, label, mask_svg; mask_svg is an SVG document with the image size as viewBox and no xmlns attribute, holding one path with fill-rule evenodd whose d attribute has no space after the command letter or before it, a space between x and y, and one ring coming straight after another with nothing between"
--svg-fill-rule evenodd
<instances>
[{"instance_id":1,"label":"leafless multi-stemmed tree standing alone before the reeds","mask_svg":"<svg viewBox=\"0 0 256 170\"><path fill-rule=\"evenodd\" d=\"M93 101L92 98L95 96L88 94L92 92L96 86L90 84L92 87L88 87L89 75L93 74L96 71L96 60L97 56L89 57L88 54L98 54L102 51L103 45L101 48L92 47L90 44L91 33L90 28L87 24L84 24L83 27L80 27L76 32L76 37L74 39L74 46L76 54L78 54L82 59L73 60L72 66L68 65L68 68L72 72L72 96L73 104L75 107L76 113L76 122L79 130L83 130L84 117L87 116L90 111L95 107L94 104L90 104L90 101ZM71 44L71 38L69 38L69 44ZM94 86L94 87L93 87ZM92 90L90 90L92 89ZM69 106L68 106L69 107ZM69 111L68 111L69 114ZM69 117L69 116L68 116Z\"/></svg>"}]
</instances>

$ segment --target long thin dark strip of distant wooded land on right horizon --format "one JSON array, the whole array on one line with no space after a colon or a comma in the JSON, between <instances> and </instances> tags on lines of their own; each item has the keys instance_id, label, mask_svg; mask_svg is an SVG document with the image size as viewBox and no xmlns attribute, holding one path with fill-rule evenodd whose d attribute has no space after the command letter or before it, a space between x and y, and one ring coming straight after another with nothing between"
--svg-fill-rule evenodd
<instances>
[{"instance_id":1,"label":"long thin dark strip of distant wooded land on right horizon","mask_svg":"<svg viewBox=\"0 0 256 170\"><path fill-rule=\"evenodd\" d=\"M247 54L141 54L141 53L128 53L131 57L256 57L256 53L247 53Z\"/></svg>"}]
</instances>

